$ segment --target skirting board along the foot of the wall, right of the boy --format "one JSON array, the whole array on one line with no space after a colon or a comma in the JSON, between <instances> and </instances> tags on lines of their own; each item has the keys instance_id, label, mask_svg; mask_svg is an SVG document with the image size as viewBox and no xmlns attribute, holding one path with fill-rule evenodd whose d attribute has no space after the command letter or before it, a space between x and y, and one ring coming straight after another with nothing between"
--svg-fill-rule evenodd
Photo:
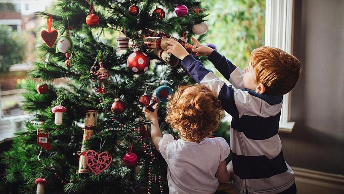
<instances>
[{"instance_id":1,"label":"skirting board along the foot of the wall, right of the boy","mask_svg":"<svg viewBox=\"0 0 344 194\"><path fill-rule=\"evenodd\" d=\"M291 167L298 193L344 193L344 175Z\"/></svg>"}]
</instances>

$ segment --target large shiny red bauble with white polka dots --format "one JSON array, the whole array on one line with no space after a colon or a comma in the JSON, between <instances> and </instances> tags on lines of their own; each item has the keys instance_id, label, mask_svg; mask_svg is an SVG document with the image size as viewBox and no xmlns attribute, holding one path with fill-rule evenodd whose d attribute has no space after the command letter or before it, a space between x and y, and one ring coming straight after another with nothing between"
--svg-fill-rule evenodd
<instances>
[{"instance_id":1,"label":"large shiny red bauble with white polka dots","mask_svg":"<svg viewBox=\"0 0 344 194\"><path fill-rule=\"evenodd\" d=\"M129 55L127 59L128 68L133 74L141 75L149 69L149 57L146 53L140 51L139 48L135 48L134 52Z\"/></svg>"}]
</instances>

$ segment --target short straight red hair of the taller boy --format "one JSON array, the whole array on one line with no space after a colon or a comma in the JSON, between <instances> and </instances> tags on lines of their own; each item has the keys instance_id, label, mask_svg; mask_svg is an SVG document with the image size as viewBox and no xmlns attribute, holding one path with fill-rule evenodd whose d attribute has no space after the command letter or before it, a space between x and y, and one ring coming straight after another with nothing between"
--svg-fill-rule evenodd
<instances>
[{"instance_id":1,"label":"short straight red hair of the taller boy","mask_svg":"<svg viewBox=\"0 0 344 194\"><path fill-rule=\"evenodd\" d=\"M256 48L251 52L250 62L256 71L256 83L265 86L267 95L287 94L300 77L299 59L279 48Z\"/></svg>"}]
</instances>

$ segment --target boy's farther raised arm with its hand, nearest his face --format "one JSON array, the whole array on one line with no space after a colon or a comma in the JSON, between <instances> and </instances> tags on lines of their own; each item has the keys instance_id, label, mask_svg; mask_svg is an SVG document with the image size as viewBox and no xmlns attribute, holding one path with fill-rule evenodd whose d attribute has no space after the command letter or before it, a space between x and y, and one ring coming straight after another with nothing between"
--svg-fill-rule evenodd
<instances>
[{"instance_id":1,"label":"boy's farther raised arm with its hand, nearest his face","mask_svg":"<svg viewBox=\"0 0 344 194\"><path fill-rule=\"evenodd\" d=\"M243 70L235 66L216 50L201 45L200 42L193 37L192 42L197 47L192 50L193 52L196 52L196 55L207 56L208 60L214 64L215 68L230 82L230 84L232 84L236 89L243 88Z\"/></svg>"}]
</instances>

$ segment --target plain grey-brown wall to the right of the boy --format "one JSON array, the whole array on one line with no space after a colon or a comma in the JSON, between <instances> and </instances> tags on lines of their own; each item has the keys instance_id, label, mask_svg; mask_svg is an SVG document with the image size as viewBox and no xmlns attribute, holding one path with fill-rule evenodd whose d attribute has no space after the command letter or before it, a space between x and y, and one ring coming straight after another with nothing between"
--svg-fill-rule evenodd
<instances>
[{"instance_id":1,"label":"plain grey-brown wall to the right of the boy","mask_svg":"<svg viewBox=\"0 0 344 194\"><path fill-rule=\"evenodd\" d=\"M292 91L290 166L344 175L344 1L295 0L294 55L302 65Z\"/></svg>"}]
</instances>

